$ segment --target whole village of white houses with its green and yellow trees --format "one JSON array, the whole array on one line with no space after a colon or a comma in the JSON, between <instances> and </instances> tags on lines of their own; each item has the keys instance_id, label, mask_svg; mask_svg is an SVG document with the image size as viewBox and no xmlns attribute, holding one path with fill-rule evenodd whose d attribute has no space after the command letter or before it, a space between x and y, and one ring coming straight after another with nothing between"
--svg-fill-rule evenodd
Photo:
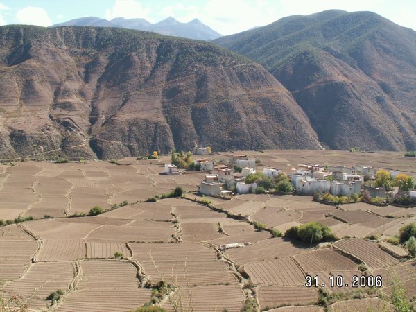
<instances>
[{"instance_id":1,"label":"whole village of white houses with its green and yellow trees","mask_svg":"<svg viewBox=\"0 0 416 312\"><path fill-rule=\"evenodd\" d=\"M197 159L193 160L191 155ZM314 200L332 204L365 201L374 205L416 205L415 178L398 170L373 166L297 164L284 171L262 166L259 159L233 153L219 162L209 157L211 148L194 148L193 153L173 152L173 162L164 174L205 172L199 193L231 199L236 194L277 193L313 195Z\"/></svg>"}]
</instances>

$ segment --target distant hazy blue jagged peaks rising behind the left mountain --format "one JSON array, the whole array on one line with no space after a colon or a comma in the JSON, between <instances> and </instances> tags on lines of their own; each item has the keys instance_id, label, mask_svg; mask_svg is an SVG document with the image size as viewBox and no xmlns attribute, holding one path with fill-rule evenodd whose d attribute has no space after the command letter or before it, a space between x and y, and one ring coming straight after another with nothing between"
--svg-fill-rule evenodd
<instances>
[{"instance_id":1,"label":"distant hazy blue jagged peaks rising behind the left mountain","mask_svg":"<svg viewBox=\"0 0 416 312\"><path fill-rule=\"evenodd\" d=\"M71 19L64 23L55 24L51 27L58 26L96 26L96 27L116 27L128 28L138 31L153 31L162 35L191 38L196 40L213 40L221 37L219 33L203 24L199 19L193 19L188 23L181 23L173 17L168 17L163 21L152 24L146 19L125 19L116 17L110 21L99 17L82 17L80 19Z\"/></svg>"}]
</instances>

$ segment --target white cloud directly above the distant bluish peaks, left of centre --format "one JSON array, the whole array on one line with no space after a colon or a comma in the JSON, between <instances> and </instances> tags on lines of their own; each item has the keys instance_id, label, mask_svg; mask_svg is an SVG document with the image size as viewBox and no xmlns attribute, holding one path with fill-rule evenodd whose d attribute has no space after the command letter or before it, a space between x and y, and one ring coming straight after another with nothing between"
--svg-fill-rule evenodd
<instances>
[{"instance_id":1,"label":"white cloud directly above the distant bluish peaks, left of centre","mask_svg":"<svg viewBox=\"0 0 416 312\"><path fill-rule=\"evenodd\" d=\"M151 8L145 8L141 3L135 0L115 0L111 9L105 10L106 19L114 19L115 17L124 17L126 19L143 18L153 22L149 16Z\"/></svg>"}]
</instances>

